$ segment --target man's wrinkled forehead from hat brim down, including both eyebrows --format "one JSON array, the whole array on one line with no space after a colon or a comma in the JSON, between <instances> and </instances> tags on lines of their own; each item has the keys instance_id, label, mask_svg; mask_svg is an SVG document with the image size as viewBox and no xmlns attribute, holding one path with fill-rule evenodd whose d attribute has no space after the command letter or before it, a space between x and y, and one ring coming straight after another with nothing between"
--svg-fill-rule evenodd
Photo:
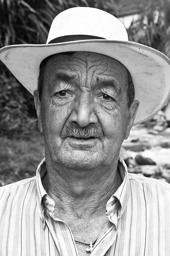
<instances>
[{"instance_id":1,"label":"man's wrinkled forehead from hat brim down, including both eyebrows","mask_svg":"<svg viewBox=\"0 0 170 256\"><path fill-rule=\"evenodd\" d=\"M58 77L76 82L81 87L94 88L98 81L113 84L126 91L128 71L117 60L94 52L55 54L46 60L44 82L52 86ZM63 80L63 79L62 79ZM47 86L47 90L50 88Z\"/></svg>"}]
</instances>

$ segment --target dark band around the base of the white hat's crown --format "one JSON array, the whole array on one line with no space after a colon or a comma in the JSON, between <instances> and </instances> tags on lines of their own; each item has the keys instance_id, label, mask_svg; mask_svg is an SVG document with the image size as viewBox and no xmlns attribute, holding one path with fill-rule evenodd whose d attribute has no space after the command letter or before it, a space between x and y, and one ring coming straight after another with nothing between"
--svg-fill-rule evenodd
<instances>
[{"instance_id":1,"label":"dark band around the base of the white hat's crown","mask_svg":"<svg viewBox=\"0 0 170 256\"><path fill-rule=\"evenodd\" d=\"M90 40L90 39L106 39L99 36L89 36L89 35L69 35L69 36L60 36L52 39L48 44L64 43L69 41L76 40Z\"/></svg>"}]
</instances>

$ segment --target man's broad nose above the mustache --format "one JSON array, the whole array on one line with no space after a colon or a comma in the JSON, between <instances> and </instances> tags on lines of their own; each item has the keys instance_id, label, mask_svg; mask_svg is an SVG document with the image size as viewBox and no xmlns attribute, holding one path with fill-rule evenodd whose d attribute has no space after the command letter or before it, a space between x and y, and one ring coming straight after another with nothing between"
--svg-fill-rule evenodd
<instances>
[{"instance_id":1,"label":"man's broad nose above the mustache","mask_svg":"<svg viewBox=\"0 0 170 256\"><path fill-rule=\"evenodd\" d=\"M81 92L73 104L72 113L69 117L70 122L76 122L81 127L98 122L95 114L95 103L90 92Z\"/></svg>"}]
</instances>

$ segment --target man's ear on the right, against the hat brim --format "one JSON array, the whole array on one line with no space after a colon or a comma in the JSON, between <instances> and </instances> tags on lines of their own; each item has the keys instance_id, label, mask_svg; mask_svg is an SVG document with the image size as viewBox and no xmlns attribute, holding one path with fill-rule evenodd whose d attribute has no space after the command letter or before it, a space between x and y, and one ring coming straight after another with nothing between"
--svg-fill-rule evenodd
<instances>
[{"instance_id":1,"label":"man's ear on the right, against the hat brim","mask_svg":"<svg viewBox=\"0 0 170 256\"><path fill-rule=\"evenodd\" d=\"M138 106L139 106L139 101L138 100L134 100L130 109L129 109L129 118L128 118L128 126L126 129L126 134L124 139L127 140L127 138L129 137L130 134L130 130L132 128L132 125L134 123L134 119L138 110Z\"/></svg>"}]
</instances>

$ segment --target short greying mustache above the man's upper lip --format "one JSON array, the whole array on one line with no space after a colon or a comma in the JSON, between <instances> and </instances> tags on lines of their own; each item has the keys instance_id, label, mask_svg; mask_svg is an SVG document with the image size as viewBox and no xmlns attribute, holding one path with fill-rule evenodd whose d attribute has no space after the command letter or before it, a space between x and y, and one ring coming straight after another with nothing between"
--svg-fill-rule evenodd
<instances>
[{"instance_id":1,"label":"short greying mustache above the man's upper lip","mask_svg":"<svg viewBox=\"0 0 170 256\"><path fill-rule=\"evenodd\" d=\"M79 139L103 138L103 131L100 124L89 124L81 127L78 124L67 123L62 132L62 138L74 137Z\"/></svg>"}]
</instances>

